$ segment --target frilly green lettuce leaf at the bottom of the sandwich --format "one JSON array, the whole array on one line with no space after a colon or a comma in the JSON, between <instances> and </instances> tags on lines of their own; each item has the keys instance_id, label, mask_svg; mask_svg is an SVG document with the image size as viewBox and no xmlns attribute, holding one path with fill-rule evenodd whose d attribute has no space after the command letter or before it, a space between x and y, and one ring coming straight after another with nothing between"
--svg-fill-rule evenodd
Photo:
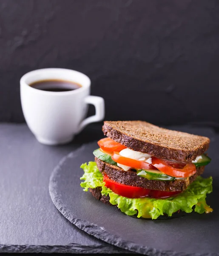
<instances>
[{"instance_id":1,"label":"frilly green lettuce leaf at the bottom of the sandwich","mask_svg":"<svg viewBox=\"0 0 219 256\"><path fill-rule=\"evenodd\" d=\"M198 213L212 211L205 201L206 195L212 192L212 177L199 176L182 193L170 198L126 198L115 194L104 186L105 182L103 182L102 174L95 162L89 162L88 165L84 163L80 167L84 170L84 174L80 178L80 180L85 180L81 183L83 190L88 191L88 188L102 187L102 195L109 195L110 203L117 205L121 212L127 215L137 214L138 218L156 219L164 214L172 216L178 210L187 213L193 210Z\"/></svg>"}]
</instances>

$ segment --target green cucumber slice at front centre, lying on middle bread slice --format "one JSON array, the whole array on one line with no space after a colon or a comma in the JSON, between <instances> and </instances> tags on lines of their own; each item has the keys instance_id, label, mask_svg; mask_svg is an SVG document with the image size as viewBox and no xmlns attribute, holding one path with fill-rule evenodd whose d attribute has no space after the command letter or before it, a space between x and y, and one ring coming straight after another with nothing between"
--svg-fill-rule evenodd
<instances>
[{"instance_id":1,"label":"green cucumber slice at front centre, lying on middle bread slice","mask_svg":"<svg viewBox=\"0 0 219 256\"><path fill-rule=\"evenodd\" d=\"M148 180L175 180L175 177L166 175L159 170L138 170L137 175Z\"/></svg>"}]
</instances>

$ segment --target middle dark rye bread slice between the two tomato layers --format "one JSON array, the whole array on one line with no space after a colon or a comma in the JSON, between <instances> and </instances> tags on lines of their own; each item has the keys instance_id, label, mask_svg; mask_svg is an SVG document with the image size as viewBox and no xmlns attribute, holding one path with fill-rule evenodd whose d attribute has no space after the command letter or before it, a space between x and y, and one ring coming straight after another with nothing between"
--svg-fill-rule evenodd
<instances>
[{"instance_id":1,"label":"middle dark rye bread slice between the two tomato layers","mask_svg":"<svg viewBox=\"0 0 219 256\"><path fill-rule=\"evenodd\" d=\"M95 162L97 163L99 171L103 175L107 175L111 180L129 186L138 186L145 189L155 189L160 191L183 191L196 179L197 176L201 175L205 169L205 166L198 167L196 173L187 180L163 181L148 180L138 176L135 171L124 171L119 166L106 163L97 157L95 157Z\"/></svg>"}]
</instances>

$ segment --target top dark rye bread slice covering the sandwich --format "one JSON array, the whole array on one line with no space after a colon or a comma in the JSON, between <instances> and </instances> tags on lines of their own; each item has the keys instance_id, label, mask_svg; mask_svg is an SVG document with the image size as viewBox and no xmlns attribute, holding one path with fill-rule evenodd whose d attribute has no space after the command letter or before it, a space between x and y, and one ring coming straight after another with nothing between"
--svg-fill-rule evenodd
<instances>
[{"instance_id":1,"label":"top dark rye bread slice covering the sandwich","mask_svg":"<svg viewBox=\"0 0 219 256\"><path fill-rule=\"evenodd\" d=\"M134 151L191 162L209 147L210 139L160 128L144 121L105 121L104 135Z\"/></svg>"}]
</instances>

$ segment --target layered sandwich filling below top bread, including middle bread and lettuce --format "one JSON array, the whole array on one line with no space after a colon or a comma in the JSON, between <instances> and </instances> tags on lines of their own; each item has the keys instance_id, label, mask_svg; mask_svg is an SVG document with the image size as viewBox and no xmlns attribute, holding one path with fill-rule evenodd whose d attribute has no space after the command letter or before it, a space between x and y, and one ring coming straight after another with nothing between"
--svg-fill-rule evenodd
<instances>
[{"instance_id":1,"label":"layered sandwich filling below top bread, including middle bread and lettuce","mask_svg":"<svg viewBox=\"0 0 219 256\"><path fill-rule=\"evenodd\" d=\"M179 210L191 212L194 209L198 213L212 211L205 201L206 195L212 191L212 178L196 177L199 176L196 172L210 163L206 154L197 156L192 162L182 162L134 151L108 137L98 141L98 145L100 148L93 152L97 163L89 162L81 166L85 172L81 177L85 180L81 186L85 191L99 188L101 194L109 196L109 202L117 205L122 212L143 218L156 219L164 213L171 216ZM99 166L102 163L114 175L101 171ZM130 184L127 181L130 178L121 179L120 174L137 179ZM167 183L168 186L158 186ZM178 190L171 189L173 184L178 183L185 186Z\"/></svg>"}]
</instances>

